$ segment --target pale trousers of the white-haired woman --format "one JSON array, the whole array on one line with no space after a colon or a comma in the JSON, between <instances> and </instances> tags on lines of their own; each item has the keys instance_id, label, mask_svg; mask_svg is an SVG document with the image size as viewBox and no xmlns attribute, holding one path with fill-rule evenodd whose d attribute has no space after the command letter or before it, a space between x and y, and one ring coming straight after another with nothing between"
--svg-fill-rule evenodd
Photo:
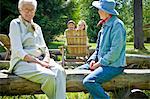
<instances>
[{"instance_id":1,"label":"pale trousers of the white-haired woman","mask_svg":"<svg viewBox=\"0 0 150 99\"><path fill-rule=\"evenodd\" d=\"M41 84L41 90L49 99L66 99L66 73L56 62L53 61L53 65L54 67L47 69L36 63L20 61L13 73Z\"/></svg>"}]
</instances>

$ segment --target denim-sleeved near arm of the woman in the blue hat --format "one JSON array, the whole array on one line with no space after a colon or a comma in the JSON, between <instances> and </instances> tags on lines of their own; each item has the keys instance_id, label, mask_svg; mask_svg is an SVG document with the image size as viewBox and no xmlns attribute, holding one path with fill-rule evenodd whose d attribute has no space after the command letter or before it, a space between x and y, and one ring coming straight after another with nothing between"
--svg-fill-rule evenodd
<instances>
[{"instance_id":1,"label":"denim-sleeved near arm of the woman in the blue hat","mask_svg":"<svg viewBox=\"0 0 150 99\"><path fill-rule=\"evenodd\" d=\"M120 58L120 53L126 45L126 31L122 24L118 23L112 29L110 50L98 61L99 64L109 65Z\"/></svg>"}]
</instances>

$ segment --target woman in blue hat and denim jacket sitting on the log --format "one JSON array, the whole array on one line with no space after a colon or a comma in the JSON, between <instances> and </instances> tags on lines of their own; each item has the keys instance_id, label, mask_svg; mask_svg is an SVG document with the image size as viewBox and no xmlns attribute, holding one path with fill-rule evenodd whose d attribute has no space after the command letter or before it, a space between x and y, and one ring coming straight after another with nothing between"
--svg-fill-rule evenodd
<instances>
[{"instance_id":1,"label":"woman in blue hat and denim jacket sitting on the log","mask_svg":"<svg viewBox=\"0 0 150 99\"><path fill-rule=\"evenodd\" d=\"M87 63L78 69L90 69L83 85L94 99L109 99L101 84L121 74L126 66L126 30L117 17L114 0L99 0L92 3L98 9L102 28L98 33L97 47Z\"/></svg>"}]
</instances>

